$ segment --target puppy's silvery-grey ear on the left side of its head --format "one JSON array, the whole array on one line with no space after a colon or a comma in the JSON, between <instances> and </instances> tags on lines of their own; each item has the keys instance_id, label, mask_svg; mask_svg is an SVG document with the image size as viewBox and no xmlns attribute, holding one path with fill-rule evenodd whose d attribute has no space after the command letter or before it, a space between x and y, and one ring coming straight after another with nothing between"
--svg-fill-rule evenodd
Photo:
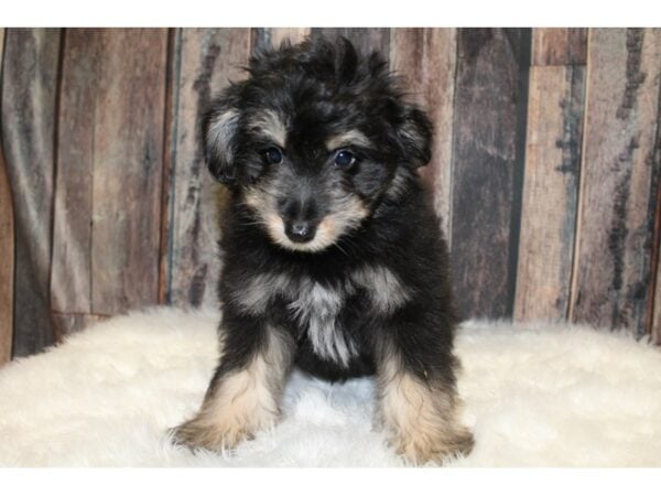
<instances>
[{"instance_id":1,"label":"puppy's silvery-grey ear on the left side of its head","mask_svg":"<svg viewBox=\"0 0 661 496\"><path fill-rule=\"evenodd\" d=\"M235 148L239 111L227 99L217 101L204 118L204 155L216 181L232 185L237 181Z\"/></svg>"}]
</instances>

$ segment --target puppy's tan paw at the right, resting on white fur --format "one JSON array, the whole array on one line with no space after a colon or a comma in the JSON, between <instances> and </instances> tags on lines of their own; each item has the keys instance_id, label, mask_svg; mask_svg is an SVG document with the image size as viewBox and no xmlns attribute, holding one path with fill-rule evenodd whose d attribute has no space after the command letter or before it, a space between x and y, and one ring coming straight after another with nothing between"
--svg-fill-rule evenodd
<instances>
[{"instance_id":1,"label":"puppy's tan paw at the right, resting on white fur","mask_svg":"<svg viewBox=\"0 0 661 496\"><path fill-rule=\"evenodd\" d=\"M441 465L453 456L467 456L474 445L473 434L463 427L443 432L395 432L388 441L410 465Z\"/></svg>"}]
</instances>

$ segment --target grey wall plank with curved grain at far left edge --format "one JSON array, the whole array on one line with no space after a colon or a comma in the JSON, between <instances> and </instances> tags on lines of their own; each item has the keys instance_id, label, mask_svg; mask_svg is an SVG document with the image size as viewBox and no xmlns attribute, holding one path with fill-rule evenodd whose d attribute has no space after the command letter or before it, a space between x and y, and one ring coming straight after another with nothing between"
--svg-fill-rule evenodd
<instances>
[{"instance_id":1,"label":"grey wall plank with curved grain at far left edge","mask_svg":"<svg viewBox=\"0 0 661 496\"><path fill-rule=\"evenodd\" d=\"M25 356L55 339L48 276L61 30L6 34L1 120L15 222L13 355Z\"/></svg>"}]
</instances>

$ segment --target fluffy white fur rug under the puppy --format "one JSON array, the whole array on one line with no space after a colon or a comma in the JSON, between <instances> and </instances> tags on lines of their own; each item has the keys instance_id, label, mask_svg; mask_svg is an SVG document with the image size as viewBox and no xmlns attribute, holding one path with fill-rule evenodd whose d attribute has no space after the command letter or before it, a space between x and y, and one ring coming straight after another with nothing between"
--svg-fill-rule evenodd
<instances>
[{"instance_id":1,"label":"fluffy white fur rug under the puppy","mask_svg":"<svg viewBox=\"0 0 661 496\"><path fill-rule=\"evenodd\" d=\"M371 429L371 380L300 373L282 422L234 454L171 445L214 369L217 322L153 309L0 369L0 465L402 465ZM467 323L457 353L476 445L452 465L661 466L658 349L585 327Z\"/></svg>"}]
</instances>

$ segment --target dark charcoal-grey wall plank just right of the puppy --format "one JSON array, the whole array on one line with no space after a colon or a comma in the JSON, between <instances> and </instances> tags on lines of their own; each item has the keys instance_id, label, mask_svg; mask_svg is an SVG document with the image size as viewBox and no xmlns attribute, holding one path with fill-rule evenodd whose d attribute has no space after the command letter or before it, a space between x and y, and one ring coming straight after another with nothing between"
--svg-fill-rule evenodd
<instances>
[{"instance_id":1,"label":"dark charcoal-grey wall plank just right of the puppy","mask_svg":"<svg viewBox=\"0 0 661 496\"><path fill-rule=\"evenodd\" d=\"M510 316L525 134L529 30L459 30L452 265L468 316Z\"/></svg>"}]
</instances>

